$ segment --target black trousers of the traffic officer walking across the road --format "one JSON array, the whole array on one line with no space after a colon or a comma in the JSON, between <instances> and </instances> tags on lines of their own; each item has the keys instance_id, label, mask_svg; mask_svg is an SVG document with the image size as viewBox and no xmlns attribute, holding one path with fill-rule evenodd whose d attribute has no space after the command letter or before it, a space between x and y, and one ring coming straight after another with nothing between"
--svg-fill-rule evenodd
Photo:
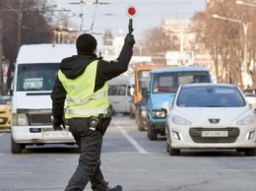
<instances>
[{"instance_id":1,"label":"black trousers of the traffic officer walking across the road","mask_svg":"<svg viewBox=\"0 0 256 191\"><path fill-rule=\"evenodd\" d=\"M106 182L100 170L101 133L90 129L89 118L70 119L68 124L80 148L80 158L65 191L83 191L89 181L94 191L104 191Z\"/></svg>"}]
</instances>

